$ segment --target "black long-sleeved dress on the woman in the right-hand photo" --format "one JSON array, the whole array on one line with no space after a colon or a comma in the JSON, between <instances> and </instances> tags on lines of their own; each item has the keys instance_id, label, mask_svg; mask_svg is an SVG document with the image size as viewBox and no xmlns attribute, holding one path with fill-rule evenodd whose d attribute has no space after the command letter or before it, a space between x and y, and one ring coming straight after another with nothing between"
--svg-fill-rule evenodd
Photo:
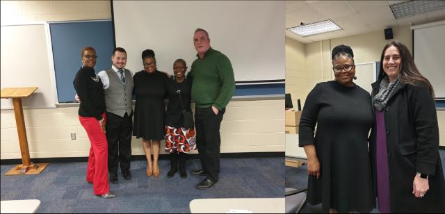
<instances>
[{"instance_id":1,"label":"black long-sleeved dress on the woman in the right-hand photo","mask_svg":"<svg viewBox=\"0 0 445 214\"><path fill-rule=\"evenodd\" d=\"M317 124L314 137L314 127ZM371 96L358 85L318 83L303 108L299 145L315 145L321 177L309 176L307 202L323 212L368 213L373 208L368 136L373 126Z\"/></svg>"}]
</instances>

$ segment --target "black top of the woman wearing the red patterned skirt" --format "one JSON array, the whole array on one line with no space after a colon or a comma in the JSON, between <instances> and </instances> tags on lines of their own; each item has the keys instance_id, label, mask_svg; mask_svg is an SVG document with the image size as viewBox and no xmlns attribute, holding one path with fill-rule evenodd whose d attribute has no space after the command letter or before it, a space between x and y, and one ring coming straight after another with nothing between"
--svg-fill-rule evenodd
<instances>
[{"instance_id":1,"label":"black top of the woman wearing the red patterned skirt","mask_svg":"<svg viewBox=\"0 0 445 214\"><path fill-rule=\"evenodd\" d=\"M184 118L182 117L182 106L179 102L177 90L181 91L182 104L187 111L191 111L191 77L184 79L181 83L177 83L174 77L168 79L168 106L165 114L165 124L175 128L184 126Z\"/></svg>"}]
</instances>

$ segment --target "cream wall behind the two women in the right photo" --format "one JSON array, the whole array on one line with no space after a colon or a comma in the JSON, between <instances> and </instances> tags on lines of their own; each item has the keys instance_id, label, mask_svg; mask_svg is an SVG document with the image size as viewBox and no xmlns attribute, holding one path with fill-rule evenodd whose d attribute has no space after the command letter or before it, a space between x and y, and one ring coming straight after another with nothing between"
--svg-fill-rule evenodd
<instances>
[{"instance_id":1,"label":"cream wall behind the two women in the right photo","mask_svg":"<svg viewBox=\"0 0 445 214\"><path fill-rule=\"evenodd\" d=\"M403 42L412 51L412 32L409 26L393 28L393 34L394 40ZM286 92L291 92L293 99L301 99L301 105L304 106L307 94L316 83L334 79L331 49L339 44L349 45L353 48L355 63L369 63L380 61L382 49L388 42L389 40L385 40L383 31L309 44L302 44L291 38L286 38ZM293 63L295 60L305 61L305 63L297 65ZM298 72L296 66L303 67L303 64L305 72ZM287 65L291 65L291 67L287 67ZM301 80L297 81L296 76ZM439 120L439 145L445 146L445 110L437 110L437 117Z\"/></svg>"}]
</instances>

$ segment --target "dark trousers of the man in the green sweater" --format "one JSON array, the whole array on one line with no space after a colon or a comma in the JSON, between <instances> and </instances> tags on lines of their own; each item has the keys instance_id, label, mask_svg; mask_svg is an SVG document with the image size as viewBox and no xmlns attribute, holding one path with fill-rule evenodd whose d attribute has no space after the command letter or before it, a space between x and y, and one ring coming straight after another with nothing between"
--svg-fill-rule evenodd
<instances>
[{"instance_id":1,"label":"dark trousers of the man in the green sweater","mask_svg":"<svg viewBox=\"0 0 445 214\"><path fill-rule=\"evenodd\" d=\"M211 181L218 181L220 173L220 126L225 108L218 115L209 108L195 108L196 146L202 170Z\"/></svg>"}]
</instances>

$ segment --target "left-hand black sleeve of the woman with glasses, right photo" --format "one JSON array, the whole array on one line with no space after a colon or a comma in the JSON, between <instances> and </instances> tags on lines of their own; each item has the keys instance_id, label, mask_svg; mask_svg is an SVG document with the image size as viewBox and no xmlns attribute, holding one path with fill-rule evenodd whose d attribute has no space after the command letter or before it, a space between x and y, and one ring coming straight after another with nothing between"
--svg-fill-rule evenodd
<instances>
[{"instance_id":1,"label":"left-hand black sleeve of the woman with glasses, right photo","mask_svg":"<svg viewBox=\"0 0 445 214\"><path fill-rule=\"evenodd\" d=\"M317 123L319 99L321 97L321 85L315 85L314 89L307 95L305 106L301 113L298 129L298 146L314 145L314 129Z\"/></svg>"}]
</instances>

